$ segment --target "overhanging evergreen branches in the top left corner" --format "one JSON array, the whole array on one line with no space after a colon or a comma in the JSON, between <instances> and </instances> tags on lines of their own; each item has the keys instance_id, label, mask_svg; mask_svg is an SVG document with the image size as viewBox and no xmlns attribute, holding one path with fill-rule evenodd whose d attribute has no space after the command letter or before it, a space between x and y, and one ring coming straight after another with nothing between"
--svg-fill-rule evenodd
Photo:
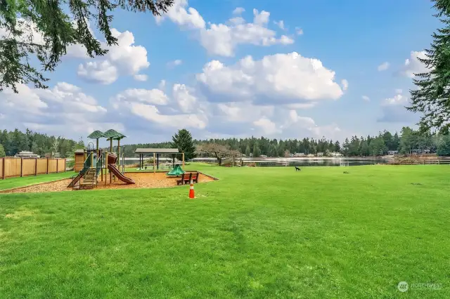
<instances>
[{"instance_id":1,"label":"overhanging evergreen branches in the top left corner","mask_svg":"<svg viewBox=\"0 0 450 299\"><path fill-rule=\"evenodd\" d=\"M71 44L81 44L90 57L108 51L89 31L93 22L108 46L117 39L110 30L111 13L117 8L133 12L167 12L174 0L6 0L0 1L0 91L17 84L47 88L42 72L51 72ZM71 15L71 17L69 16ZM36 56L42 69L30 63ZM31 56L31 57L30 57Z\"/></svg>"}]
</instances>

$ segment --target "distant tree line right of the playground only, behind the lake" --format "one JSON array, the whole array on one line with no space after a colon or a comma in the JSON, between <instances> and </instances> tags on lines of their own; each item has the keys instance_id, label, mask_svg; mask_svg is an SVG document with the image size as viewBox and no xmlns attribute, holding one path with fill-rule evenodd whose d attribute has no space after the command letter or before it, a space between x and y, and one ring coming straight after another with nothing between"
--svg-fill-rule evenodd
<instances>
[{"instance_id":1,"label":"distant tree line right of the playground only, behind the lake","mask_svg":"<svg viewBox=\"0 0 450 299\"><path fill-rule=\"evenodd\" d=\"M184 136L184 137L180 137ZM177 147L180 151L186 152L186 159L190 157L226 157L226 154L236 156L236 152L245 154L247 157L289 157L290 154L303 153L324 155L329 153L340 153L347 157L369 157L381 156L389 151L397 151L399 154L411 154L413 152L430 152L440 155L450 155L450 151L445 150L450 147L449 138L439 133L424 132L414 130L408 126L401 128L400 134L383 131L378 135L368 135L367 137L352 136L345 138L340 144L338 140L327 140L326 138L314 139L288 139L277 140L270 138L227 138L210 140L193 140L191 133L180 130L172 138L172 142L160 142L139 145L126 145L125 153L127 157L134 156L137 147ZM184 140L181 145L179 139ZM189 141L191 140L191 141ZM191 142L191 143L190 143ZM189 149L187 147L189 145ZM211 147L205 145L221 145L223 147ZM197 150L193 150L197 147ZM221 154L218 154L218 153ZM219 158L217 158L219 159ZM222 158L220 158L222 159Z\"/></svg>"}]
</instances>

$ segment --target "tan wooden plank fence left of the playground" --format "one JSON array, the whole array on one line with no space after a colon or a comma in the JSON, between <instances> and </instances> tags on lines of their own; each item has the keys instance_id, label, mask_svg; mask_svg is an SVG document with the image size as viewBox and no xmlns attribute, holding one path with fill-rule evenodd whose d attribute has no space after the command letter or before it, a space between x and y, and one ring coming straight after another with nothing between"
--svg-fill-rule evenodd
<instances>
[{"instance_id":1,"label":"tan wooden plank fence left of the playground","mask_svg":"<svg viewBox=\"0 0 450 299\"><path fill-rule=\"evenodd\" d=\"M65 172L65 159L0 158L0 179Z\"/></svg>"}]
</instances>

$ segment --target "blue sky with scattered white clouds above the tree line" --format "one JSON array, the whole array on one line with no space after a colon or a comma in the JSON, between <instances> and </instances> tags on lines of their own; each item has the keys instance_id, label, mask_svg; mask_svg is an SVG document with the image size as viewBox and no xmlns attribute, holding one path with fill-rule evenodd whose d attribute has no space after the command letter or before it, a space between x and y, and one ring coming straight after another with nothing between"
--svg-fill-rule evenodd
<instances>
[{"instance_id":1,"label":"blue sky with scattered white clouds above the tree line","mask_svg":"<svg viewBox=\"0 0 450 299\"><path fill-rule=\"evenodd\" d=\"M419 115L404 106L439 27L431 3L355 4L177 0L158 19L117 11L119 46L95 59L72 46L49 90L4 91L0 127L70 138L115 128L127 142L156 142L183 127L195 138L342 140L413 126Z\"/></svg>"}]
</instances>

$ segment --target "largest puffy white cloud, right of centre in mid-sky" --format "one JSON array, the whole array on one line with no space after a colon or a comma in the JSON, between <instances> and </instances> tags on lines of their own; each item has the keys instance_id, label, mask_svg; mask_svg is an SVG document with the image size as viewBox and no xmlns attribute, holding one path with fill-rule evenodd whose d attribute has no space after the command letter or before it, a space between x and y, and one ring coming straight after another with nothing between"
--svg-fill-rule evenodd
<instances>
[{"instance_id":1,"label":"largest puffy white cloud, right of centre in mid-sky","mask_svg":"<svg viewBox=\"0 0 450 299\"><path fill-rule=\"evenodd\" d=\"M262 60L247 56L235 65L212 60L197 74L203 88L217 101L253 100L271 104L295 104L336 100L342 89L335 82L335 72L317 59L298 53L268 55ZM342 81L343 87L348 83Z\"/></svg>"}]
</instances>

